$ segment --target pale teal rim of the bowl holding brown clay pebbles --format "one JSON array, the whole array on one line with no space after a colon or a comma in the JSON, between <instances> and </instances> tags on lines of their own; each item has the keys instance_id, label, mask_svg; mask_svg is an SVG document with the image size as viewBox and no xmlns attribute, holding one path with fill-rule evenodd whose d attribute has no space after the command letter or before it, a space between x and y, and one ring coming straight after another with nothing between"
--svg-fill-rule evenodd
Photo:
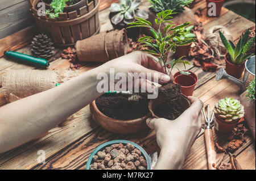
<instances>
[{"instance_id":1,"label":"pale teal rim of the bowl holding brown clay pebbles","mask_svg":"<svg viewBox=\"0 0 256 181\"><path fill-rule=\"evenodd\" d=\"M90 165L92 165L92 159L93 156L98 153L98 151L102 151L104 150L107 146L113 145L113 144L131 144L133 145L135 148L139 149L141 151L141 153L143 154L144 158L147 161L147 170L151 170L151 163L150 163L150 158L148 157L147 152L139 145L135 144L134 142L131 141L127 141L127 140L113 140L113 141L108 141L105 142L104 144L101 144L100 146L98 146L92 154L90 154L90 157L88 158L88 161L86 163L86 170L90 170Z\"/></svg>"}]
</instances>

